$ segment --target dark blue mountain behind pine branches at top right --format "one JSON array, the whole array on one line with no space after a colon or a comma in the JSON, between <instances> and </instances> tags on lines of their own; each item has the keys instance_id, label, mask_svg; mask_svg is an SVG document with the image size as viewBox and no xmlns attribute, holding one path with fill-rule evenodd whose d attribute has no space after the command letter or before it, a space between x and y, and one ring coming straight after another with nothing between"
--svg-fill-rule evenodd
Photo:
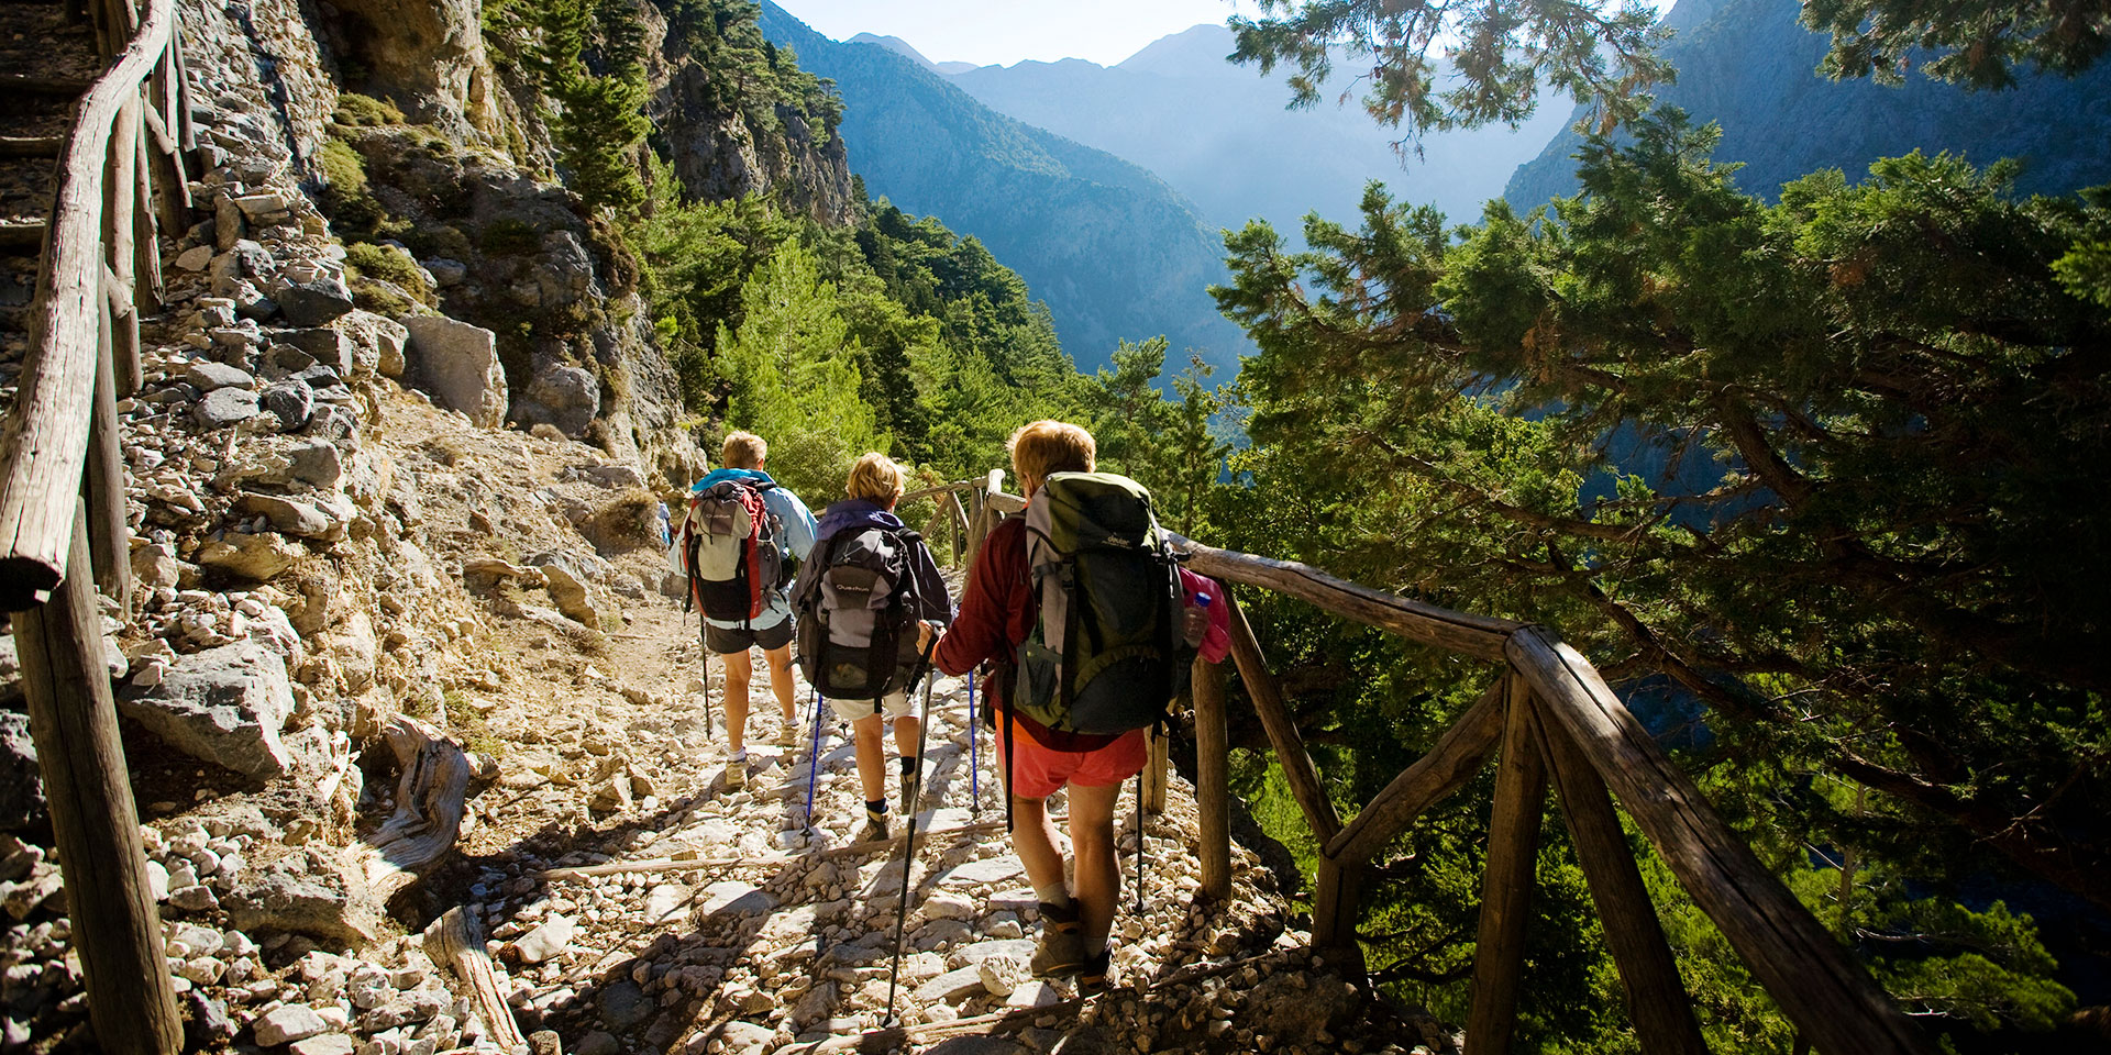
<instances>
[{"instance_id":1,"label":"dark blue mountain behind pine branches at top right","mask_svg":"<svg viewBox=\"0 0 2111 1055\"><path fill-rule=\"evenodd\" d=\"M1948 150L1976 165L2022 158L2024 192L2111 181L2111 63L2079 78L2022 76L2012 91L1965 91L1908 74L1889 89L1818 76L1830 38L1796 25L1796 0L1680 0L1666 17L1678 84L1657 97L1723 124L1718 162L1739 160L1737 186L1773 198L1818 169L1868 173L1881 156ZM1564 131L1509 179L1518 209L1575 194L1581 139Z\"/></svg>"}]
</instances>

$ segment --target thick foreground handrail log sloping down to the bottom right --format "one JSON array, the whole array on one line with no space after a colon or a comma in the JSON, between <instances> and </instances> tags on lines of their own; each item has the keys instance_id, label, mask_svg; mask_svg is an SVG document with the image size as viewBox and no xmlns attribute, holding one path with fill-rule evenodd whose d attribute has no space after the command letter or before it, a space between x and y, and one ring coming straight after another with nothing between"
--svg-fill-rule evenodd
<instances>
[{"instance_id":1,"label":"thick foreground handrail log sloping down to the bottom right","mask_svg":"<svg viewBox=\"0 0 2111 1055\"><path fill-rule=\"evenodd\" d=\"M1566 732L1782 1013L1826 1055L1934 1051L1847 950L1773 878L1604 677L1543 627L1509 637L1541 713Z\"/></svg>"}]
</instances>

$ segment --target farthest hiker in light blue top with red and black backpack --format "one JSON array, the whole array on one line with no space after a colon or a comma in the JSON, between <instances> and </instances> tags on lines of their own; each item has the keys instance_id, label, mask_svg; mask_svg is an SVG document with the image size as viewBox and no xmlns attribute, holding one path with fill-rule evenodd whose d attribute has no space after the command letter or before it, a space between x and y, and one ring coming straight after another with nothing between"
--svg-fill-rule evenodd
<instances>
[{"instance_id":1,"label":"farthest hiker in light blue top with red and black backpack","mask_svg":"<svg viewBox=\"0 0 2111 1055\"><path fill-rule=\"evenodd\" d=\"M783 711L777 743L798 745L792 684L790 563L813 553L817 525L806 502L779 487L762 464L768 443L730 433L724 468L690 487L678 544L688 572L688 597L703 612L703 648L726 665L726 787L747 787L749 648L771 667L771 690Z\"/></svg>"}]
</instances>

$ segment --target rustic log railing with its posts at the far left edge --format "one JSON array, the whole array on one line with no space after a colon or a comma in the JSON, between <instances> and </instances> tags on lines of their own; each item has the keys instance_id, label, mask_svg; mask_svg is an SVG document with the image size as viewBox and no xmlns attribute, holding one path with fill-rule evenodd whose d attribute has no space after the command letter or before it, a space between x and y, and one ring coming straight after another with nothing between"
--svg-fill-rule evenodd
<instances>
[{"instance_id":1,"label":"rustic log railing with its posts at the far left edge","mask_svg":"<svg viewBox=\"0 0 2111 1055\"><path fill-rule=\"evenodd\" d=\"M91 4L108 70L59 148L34 342L0 433L0 608L21 652L30 732L103 1051L184 1042L160 914L103 656L101 593L129 603L116 401L139 386L139 314L158 310L156 211L186 222L190 137L175 2ZM160 192L156 194L156 175Z\"/></svg>"}]
</instances>

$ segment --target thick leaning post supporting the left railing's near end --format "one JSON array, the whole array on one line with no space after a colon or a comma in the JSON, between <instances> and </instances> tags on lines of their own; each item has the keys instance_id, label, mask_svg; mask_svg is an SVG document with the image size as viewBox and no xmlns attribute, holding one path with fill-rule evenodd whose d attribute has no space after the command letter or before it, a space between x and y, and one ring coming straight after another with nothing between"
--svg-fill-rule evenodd
<instances>
[{"instance_id":1,"label":"thick leaning post supporting the left railing's near end","mask_svg":"<svg viewBox=\"0 0 2111 1055\"><path fill-rule=\"evenodd\" d=\"M68 542L87 553L87 511L72 496L65 506ZM95 1047L173 1055L184 1047L184 1021L148 888L89 561L76 561L44 606L15 610L13 622Z\"/></svg>"}]
</instances>

